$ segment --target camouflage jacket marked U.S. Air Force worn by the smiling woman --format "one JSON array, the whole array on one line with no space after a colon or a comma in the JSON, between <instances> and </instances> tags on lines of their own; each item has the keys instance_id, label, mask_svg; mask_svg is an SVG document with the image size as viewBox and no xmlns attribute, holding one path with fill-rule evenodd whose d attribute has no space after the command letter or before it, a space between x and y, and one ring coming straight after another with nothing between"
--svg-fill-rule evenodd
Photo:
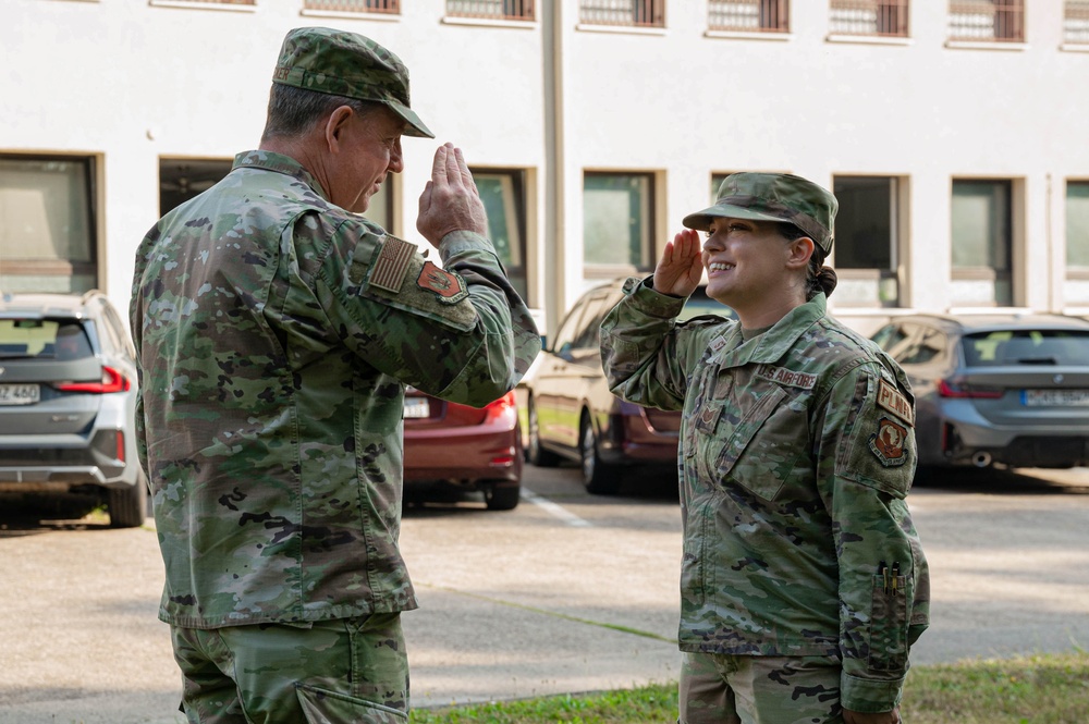
<instances>
[{"instance_id":1,"label":"camouflage jacket marked U.S. Air Force worn by the smiling woman","mask_svg":"<svg viewBox=\"0 0 1089 724\"><path fill-rule=\"evenodd\" d=\"M683 303L632 279L601 326L613 392L684 410L681 648L842 656L843 705L892 709L929 619L907 379L823 294L748 342Z\"/></svg>"}]
</instances>

